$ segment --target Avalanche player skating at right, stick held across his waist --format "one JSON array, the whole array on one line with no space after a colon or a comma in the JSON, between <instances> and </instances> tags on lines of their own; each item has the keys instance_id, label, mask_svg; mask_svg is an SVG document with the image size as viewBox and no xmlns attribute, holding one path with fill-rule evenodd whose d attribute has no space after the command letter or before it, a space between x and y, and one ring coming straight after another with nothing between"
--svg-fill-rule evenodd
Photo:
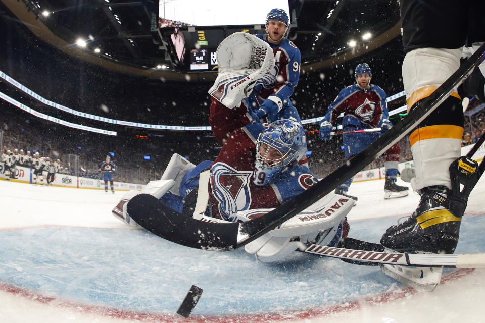
<instances>
[{"instance_id":1,"label":"Avalanche player skating at right, stick held across his waist","mask_svg":"<svg viewBox=\"0 0 485 323\"><path fill-rule=\"evenodd\" d=\"M382 133L385 133L393 126L387 119L389 111L387 111L385 102L385 92L379 86L370 84L372 70L369 65L366 63L357 65L354 76L356 84L342 89L328 107L325 118L320 122L319 137L323 140L331 139L333 125L341 113L344 113L342 120L343 131L371 128L381 128L381 131L344 134L342 139L347 160L364 150L365 147L377 140ZM398 144L395 144L385 152L384 199L408 195L407 187L396 185L400 152ZM357 197L347 194L351 183L352 178L338 186L335 193L348 196L357 201Z\"/></svg>"}]
</instances>

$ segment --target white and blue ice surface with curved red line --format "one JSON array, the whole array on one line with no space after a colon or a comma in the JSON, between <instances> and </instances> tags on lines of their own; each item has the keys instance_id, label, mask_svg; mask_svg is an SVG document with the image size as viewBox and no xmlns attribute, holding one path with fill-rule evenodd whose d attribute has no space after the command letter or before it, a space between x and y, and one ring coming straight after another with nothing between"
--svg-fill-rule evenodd
<instances>
[{"instance_id":1,"label":"white and blue ice surface with curved red line","mask_svg":"<svg viewBox=\"0 0 485 323\"><path fill-rule=\"evenodd\" d=\"M400 183L404 185L404 183ZM418 196L383 199L383 180L353 183L350 236L378 242ZM457 252L485 249L482 179L469 199ZM295 253L279 264L244 250L190 249L111 216L123 192L0 181L0 321L479 322L485 270L446 270L431 293L378 267ZM175 314L191 285L192 319ZM204 318L203 318L203 317Z\"/></svg>"}]
</instances>

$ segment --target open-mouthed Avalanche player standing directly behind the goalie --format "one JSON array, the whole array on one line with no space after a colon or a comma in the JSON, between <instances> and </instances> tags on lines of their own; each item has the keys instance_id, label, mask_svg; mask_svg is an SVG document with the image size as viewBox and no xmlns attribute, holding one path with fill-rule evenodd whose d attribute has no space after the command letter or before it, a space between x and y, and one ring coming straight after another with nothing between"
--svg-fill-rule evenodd
<instances>
[{"instance_id":1,"label":"open-mouthed Avalanche player standing directly behind the goalie","mask_svg":"<svg viewBox=\"0 0 485 323\"><path fill-rule=\"evenodd\" d=\"M285 37L288 26L286 12L272 9L266 16L266 34L256 34L273 49L275 66L256 83L249 101L256 115L269 122L293 117L301 123L290 99L300 78L300 50Z\"/></svg>"}]
</instances>

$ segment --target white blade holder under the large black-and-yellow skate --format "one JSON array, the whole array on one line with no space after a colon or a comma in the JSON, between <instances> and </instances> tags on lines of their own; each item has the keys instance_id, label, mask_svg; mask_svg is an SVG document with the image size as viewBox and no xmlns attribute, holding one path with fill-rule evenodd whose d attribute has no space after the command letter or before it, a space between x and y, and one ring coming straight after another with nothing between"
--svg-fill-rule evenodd
<instances>
[{"instance_id":1,"label":"white blade holder under the large black-and-yellow skate","mask_svg":"<svg viewBox=\"0 0 485 323\"><path fill-rule=\"evenodd\" d=\"M406 267L384 264L382 272L418 291L432 292L441 281L443 268Z\"/></svg>"}]
</instances>

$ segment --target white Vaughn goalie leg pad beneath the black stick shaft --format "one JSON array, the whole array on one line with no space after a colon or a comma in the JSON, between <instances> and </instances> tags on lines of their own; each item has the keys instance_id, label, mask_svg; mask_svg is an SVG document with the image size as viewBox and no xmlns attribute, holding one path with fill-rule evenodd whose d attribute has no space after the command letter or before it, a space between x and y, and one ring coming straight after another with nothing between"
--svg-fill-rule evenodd
<instances>
[{"instance_id":1,"label":"white Vaughn goalie leg pad beneath the black stick shaft","mask_svg":"<svg viewBox=\"0 0 485 323\"><path fill-rule=\"evenodd\" d=\"M283 260L296 249L304 247L302 242L316 237L320 244L326 245L333 239L338 225L344 221L353 206L352 199L330 193L278 228L245 245L245 251L256 254L262 262L272 262ZM248 221L271 210L239 211L237 217L239 220ZM291 241L294 237L300 237L300 241Z\"/></svg>"}]
</instances>

